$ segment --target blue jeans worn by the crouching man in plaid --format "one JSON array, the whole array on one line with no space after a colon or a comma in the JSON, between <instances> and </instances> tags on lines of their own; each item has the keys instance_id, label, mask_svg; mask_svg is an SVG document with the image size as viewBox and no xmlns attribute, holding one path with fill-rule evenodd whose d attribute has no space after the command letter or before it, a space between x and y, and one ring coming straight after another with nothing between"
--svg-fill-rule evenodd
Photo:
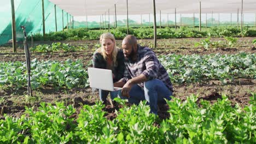
<instances>
[{"instance_id":1,"label":"blue jeans worn by the crouching man in plaid","mask_svg":"<svg viewBox=\"0 0 256 144\"><path fill-rule=\"evenodd\" d=\"M171 100L171 95L173 95L172 91L159 79L144 82L144 88L133 85L129 94L129 103L139 104L140 101L147 100L150 112L155 115L158 114L158 104L166 104L165 99Z\"/></svg>"}]
</instances>

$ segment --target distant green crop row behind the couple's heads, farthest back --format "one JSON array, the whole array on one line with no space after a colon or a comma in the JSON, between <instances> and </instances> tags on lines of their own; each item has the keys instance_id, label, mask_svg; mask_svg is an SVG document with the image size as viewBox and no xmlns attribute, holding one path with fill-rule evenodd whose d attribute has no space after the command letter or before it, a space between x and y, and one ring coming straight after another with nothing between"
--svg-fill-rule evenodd
<instances>
[{"instance_id":1,"label":"distant green crop row behind the couple's heads, farthest back","mask_svg":"<svg viewBox=\"0 0 256 144\"><path fill-rule=\"evenodd\" d=\"M54 32L46 34L45 40L98 40L100 35L106 30L88 30L85 28L70 29L69 31ZM118 27L117 29L110 29L116 39L123 39L127 33L125 27ZM154 29L130 28L129 34L135 35L138 39L152 39L154 38ZM181 27L177 30L173 28L161 28L157 30L158 39L168 38L203 38L203 37L240 37L240 29L236 27L212 27L199 31L198 28ZM255 37L256 31L254 29L243 29L243 37ZM28 37L30 40L30 37ZM41 34L35 34L34 40L43 40Z\"/></svg>"}]
</instances>

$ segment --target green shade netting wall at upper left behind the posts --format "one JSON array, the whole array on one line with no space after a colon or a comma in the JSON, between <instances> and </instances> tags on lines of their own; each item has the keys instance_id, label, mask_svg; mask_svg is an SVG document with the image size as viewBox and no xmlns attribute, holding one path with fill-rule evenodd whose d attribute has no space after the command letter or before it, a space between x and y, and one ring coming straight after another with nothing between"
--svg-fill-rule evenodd
<instances>
[{"instance_id":1,"label":"green shade netting wall at upper left behind the posts","mask_svg":"<svg viewBox=\"0 0 256 144\"><path fill-rule=\"evenodd\" d=\"M0 15L0 45L12 39L11 32L11 3L3 0ZM16 38L24 40L20 26L26 27L27 35L31 33L43 34L42 0L15 0ZM68 17L67 17L68 16ZM45 33L55 32L55 9L54 4L44 0ZM57 31L62 31L62 10L56 6ZM70 15L63 11L63 27L70 22ZM68 19L68 20L67 20Z\"/></svg>"}]
</instances>

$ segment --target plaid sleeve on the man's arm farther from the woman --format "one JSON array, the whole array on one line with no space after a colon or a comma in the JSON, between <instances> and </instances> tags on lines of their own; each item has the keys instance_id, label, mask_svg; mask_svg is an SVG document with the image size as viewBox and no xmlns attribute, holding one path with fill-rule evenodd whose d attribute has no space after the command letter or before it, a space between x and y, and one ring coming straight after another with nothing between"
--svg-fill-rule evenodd
<instances>
[{"instance_id":1,"label":"plaid sleeve on the man's arm farther from the woman","mask_svg":"<svg viewBox=\"0 0 256 144\"><path fill-rule=\"evenodd\" d=\"M147 53L144 58L146 69L142 72L148 80L156 79L158 77L158 58L153 51Z\"/></svg>"}]
</instances>

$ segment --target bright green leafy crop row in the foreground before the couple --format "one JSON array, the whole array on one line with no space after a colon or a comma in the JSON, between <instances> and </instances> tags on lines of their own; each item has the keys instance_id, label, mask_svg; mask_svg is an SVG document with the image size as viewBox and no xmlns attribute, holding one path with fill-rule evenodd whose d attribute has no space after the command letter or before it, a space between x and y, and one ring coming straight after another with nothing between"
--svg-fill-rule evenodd
<instances>
[{"instance_id":1,"label":"bright green leafy crop row in the foreground before the couple","mask_svg":"<svg viewBox=\"0 0 256 144\"><path fill-rule=\"evenodd\" d=\"M77 119L72 105L41 103L26 116L0 120L1 143L255 143L256 94L251 105L231 106L228 97L214 104L191 95L167 101L170 117L160 120L146 102L115 111L112 121L103 105L84 105ZM124 100L116 99L119 103ZM199 102L200 101L200 102ZM201 106L197 105L200 103ZM158 123L156 126L155 123Z\"/></svg>"}]
</instances>

